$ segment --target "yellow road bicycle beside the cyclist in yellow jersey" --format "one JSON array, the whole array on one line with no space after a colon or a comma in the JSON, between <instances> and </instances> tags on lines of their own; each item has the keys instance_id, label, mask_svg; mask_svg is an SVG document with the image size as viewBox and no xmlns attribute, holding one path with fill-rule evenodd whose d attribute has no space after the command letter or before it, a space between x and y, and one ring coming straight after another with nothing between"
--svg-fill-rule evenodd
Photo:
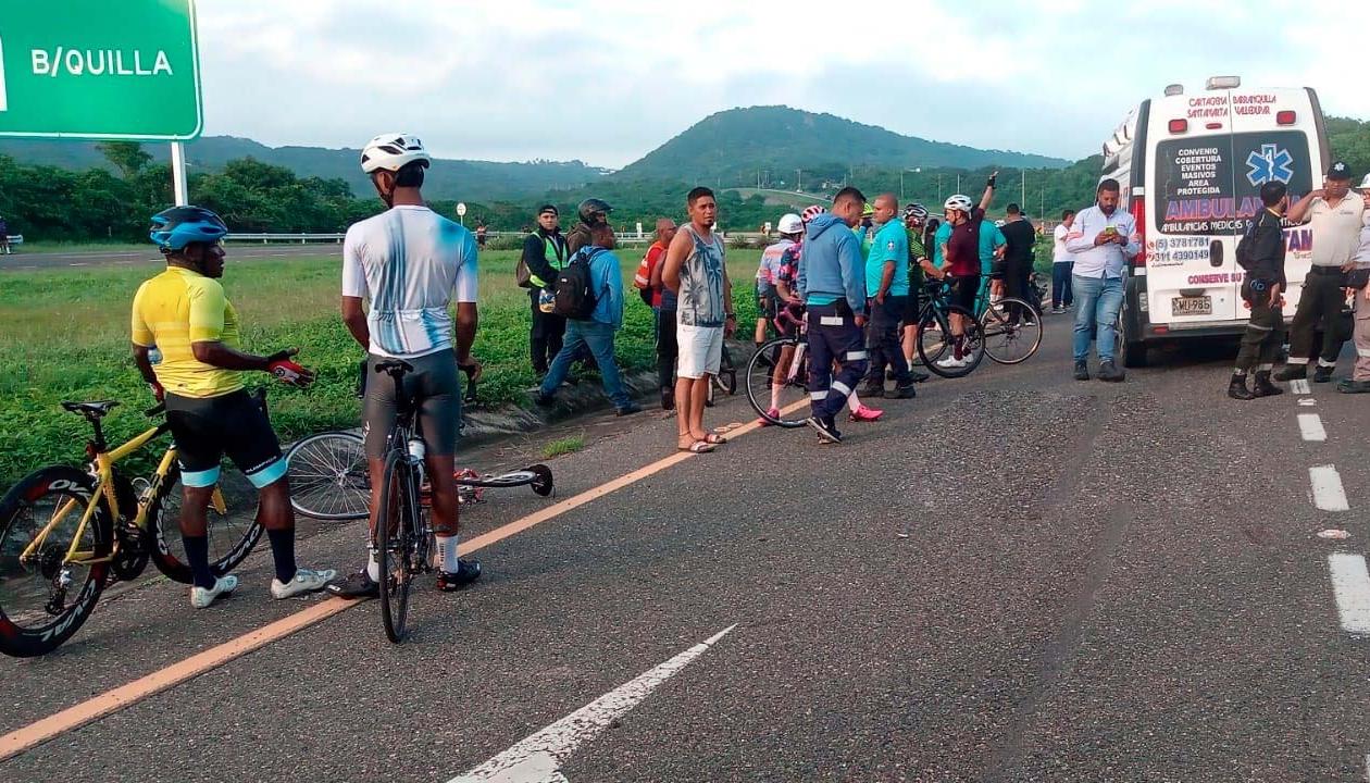
<instances>
[{"instance_id":1,"label":"yellow road bicycle beside the cyclist in yellow jersey","mask_svg":"<svg viewBox=\"0 0 1370 783\"><path fill-rule=\"evenodd\" d=\"M258 392L264 406L264 392ZM110 448L101 420L115 400L63 402L93 429L85 469L51 465L25 476L0 499L0 653L42 655L71 638L95 610L111 580L133 580L148 561L170 579L189 584L179 533L179 479L175 444L152 476L130 479L116 465L167 433L163 421ZM149 418L163 406L144 411ZM223 576L262 538L251 520L227 514L215 487L210 514L210 569Z\"/></svg>"}]
</instances>

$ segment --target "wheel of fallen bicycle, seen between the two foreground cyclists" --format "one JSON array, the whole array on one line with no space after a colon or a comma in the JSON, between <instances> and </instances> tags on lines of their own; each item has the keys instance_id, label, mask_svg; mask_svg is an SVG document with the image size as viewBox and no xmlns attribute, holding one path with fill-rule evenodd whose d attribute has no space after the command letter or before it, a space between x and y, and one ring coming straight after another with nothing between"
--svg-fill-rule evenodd
<instances>
[{"instance_id":1,"label":"wheel of fallen bicycle, seen between the two foreground cyclists","mask_svg":"<svg viewBox=\"0 0 1370 783\"><path fill-rule=\"evenodd\" d=\"M315 520L364 520L371 510L371 476L362 436L321 432L285 454L290 506Z\"/></svg>"}]
</instances>

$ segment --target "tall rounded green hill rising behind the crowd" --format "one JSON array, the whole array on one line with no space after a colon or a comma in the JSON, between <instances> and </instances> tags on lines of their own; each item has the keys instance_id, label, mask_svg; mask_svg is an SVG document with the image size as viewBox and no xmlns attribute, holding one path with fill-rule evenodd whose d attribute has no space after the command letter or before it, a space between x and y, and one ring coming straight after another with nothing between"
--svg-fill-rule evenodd
<instances>
[{"instance_id":1,"label":"tall rounded green hill rising behind the crowd","mask_svg":"<svg viewBox=\"0 0 1370 783\"><path fill-rule=\"evenodd\" d=\"M677 178L723 185L756 184L769 170L771 182L804 184L845 180L852 167L981 169L986 166L1055 169L1069 160L977 149L900 136L832 114L786 106L730 108L706 117L680 136L614 174L618 180ZM774 185L771 185L774 186ZM806 188L807 189L807 188Z\"/></svg>"}]
</instances>

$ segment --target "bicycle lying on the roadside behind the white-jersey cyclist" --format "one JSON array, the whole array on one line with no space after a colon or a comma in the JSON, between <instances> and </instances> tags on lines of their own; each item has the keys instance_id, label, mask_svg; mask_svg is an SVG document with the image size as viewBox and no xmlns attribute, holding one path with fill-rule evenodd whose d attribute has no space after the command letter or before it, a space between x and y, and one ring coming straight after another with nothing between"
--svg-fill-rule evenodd
<instances>
[{"instance_id":1,"label":"bicycle lying on the roadside behind the white-jersey cyclist","mask_svg":"<svg viewBox=\"0 0 1370 783\"><path fill-rule=\"evenodd\" d=\"M345 429L311 435L292 446L285 459L290 476L290 505L296 513L329 521L364 520L369 516L371 476L360 435ZM532 487L544 498L555 492L552 470L547 465L529 465L504 473L456 470L456 499L463 505L484 502L485 490L507 487ZM421 492L421 501L426 501L426 492Z\"/></svg>"}]
</instances>

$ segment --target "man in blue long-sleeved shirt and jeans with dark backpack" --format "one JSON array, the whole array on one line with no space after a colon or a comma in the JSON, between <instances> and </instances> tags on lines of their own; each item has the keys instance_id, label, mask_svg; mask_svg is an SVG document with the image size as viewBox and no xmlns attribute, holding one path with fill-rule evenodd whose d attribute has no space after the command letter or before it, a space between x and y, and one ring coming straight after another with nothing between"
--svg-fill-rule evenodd
<instances>
[{"instance_id":1,"label":"man in blue long-sleeved shirt and jeans with dark backpack","mask_svg":"<svg viewBox=\"0 0 1370 783\"><path fill-rule=\"evenodd\" d=\"M547 377L543 378L543 385L538 387L533 400L541 406L551 406L558 387L571 372L571 362L588 348L599 365L604 395L614 403L618 415L627 415L641 411L643 407L627 395L618 372L618 362L614 361L614 335L623 326L623 273L618 256L612 252L618 243L608 224L590 226L589 239L590 243L577 254L589 256L595 310L584 321L570 318L566 321L566 341L552 359L552 366L548 368Z\"/></svg>"}]
</instances>

